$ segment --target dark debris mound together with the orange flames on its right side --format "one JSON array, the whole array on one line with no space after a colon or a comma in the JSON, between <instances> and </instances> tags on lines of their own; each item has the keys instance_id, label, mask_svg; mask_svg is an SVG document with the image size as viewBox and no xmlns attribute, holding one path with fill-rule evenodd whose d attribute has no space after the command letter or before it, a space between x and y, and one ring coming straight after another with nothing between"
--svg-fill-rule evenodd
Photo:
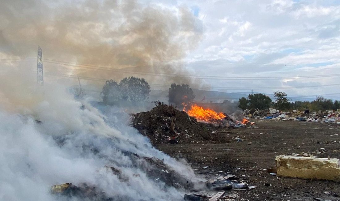
<instances>
[{"instance_id":1,"label":"dark debris mound together with the orange flames on its right side","mask_svg":"<svg viewBox=\"0 0 340 201\"><path fill-rule=\"evenodd\" d=\"M189 110L184 108L183 111L161 102L155 104L152 110L131 116L131 126L149 137L154 144L219 141L219 135L211 133L211 128L242 126L242 122L230 118L227 114L204 109L195 104Z\"/></svg>"}]
</instances>

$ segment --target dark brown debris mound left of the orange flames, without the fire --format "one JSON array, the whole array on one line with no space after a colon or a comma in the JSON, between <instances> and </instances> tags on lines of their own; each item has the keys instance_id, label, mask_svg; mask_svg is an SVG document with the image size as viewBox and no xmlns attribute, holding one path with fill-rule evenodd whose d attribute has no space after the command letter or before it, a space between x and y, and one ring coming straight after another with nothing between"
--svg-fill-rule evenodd
<instances>
[{"instance_id":1,"label":"dark brown debris mound left of the orange flames, without the fire","mask_svg":"<svg viewBox=\"0 0 340 201\"><path fill-rule=\"evenodd\" d=\"M152 143L211 140L208 124L198 122L184 111L160 102L148 112L132 114L131 125Z\"/></svg>"}]
</instances>

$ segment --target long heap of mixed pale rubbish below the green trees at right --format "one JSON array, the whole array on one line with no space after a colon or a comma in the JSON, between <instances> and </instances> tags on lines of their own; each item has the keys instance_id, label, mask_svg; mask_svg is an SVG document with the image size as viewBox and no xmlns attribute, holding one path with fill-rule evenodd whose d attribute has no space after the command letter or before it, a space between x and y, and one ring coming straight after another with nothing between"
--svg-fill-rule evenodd
<instances>
[{"instance_id":1,"label":"long heap of mixed pale rubbish below the green trees at right","mask_svg":"<svg viewBox=\"0 0 340 201\"><path fill-rule=\"evenodd\" d=\"M318 112L310 112L305 110L303 112L298 110L283 112L273 108L267 110L244 110L243 115L245 118L256 119L275 119L275 120L293 120L293 121L308 121L308 122L325 122L325 123L338 123L340 124L340 109L326 110Z\"/></svg>"}]
</instances>

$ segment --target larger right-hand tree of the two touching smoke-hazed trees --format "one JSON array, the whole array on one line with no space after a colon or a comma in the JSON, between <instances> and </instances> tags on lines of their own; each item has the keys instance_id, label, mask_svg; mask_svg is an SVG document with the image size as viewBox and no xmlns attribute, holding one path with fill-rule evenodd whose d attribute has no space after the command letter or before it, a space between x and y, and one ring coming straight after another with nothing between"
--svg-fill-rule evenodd
<instances>
[{"instance_id":1,"label":"larger right-hand tree of the two touching smoke-hazed trees","mask_svg":"<svg viewBox=\"0 0 340 201\"><path fill-rule=\"evenodd\" d=\"M119 83L122 99L130 102L145 101L149 98L150 85L144 78L124 78Z\"/></svg>"}]
</instances>

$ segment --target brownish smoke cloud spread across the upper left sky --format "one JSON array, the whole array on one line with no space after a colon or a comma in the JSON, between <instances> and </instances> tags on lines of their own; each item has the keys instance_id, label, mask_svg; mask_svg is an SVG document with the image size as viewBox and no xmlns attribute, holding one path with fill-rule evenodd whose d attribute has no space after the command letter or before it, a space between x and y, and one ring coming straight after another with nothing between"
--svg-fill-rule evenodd
<instances>
[{"instance_id":1,"label":"brownish smoke cloud spread across the upper left sky","mask_svg":"<svg viewBox=\"0 0 340 201\"><path fill-rule=\"evenodd\" d=\"M149 83L192 83L187 78L154 76L185 73L183 58L201 39L202 23L185 6L166 8L133 0L0 0L0 4L0 52L34 57L40 45L44 68L53 73L119 81L131 76L116 71L125 69L144 72L136 76ZM65 68L58 61L88 66Z\"/></svg>"}]
</instances>

